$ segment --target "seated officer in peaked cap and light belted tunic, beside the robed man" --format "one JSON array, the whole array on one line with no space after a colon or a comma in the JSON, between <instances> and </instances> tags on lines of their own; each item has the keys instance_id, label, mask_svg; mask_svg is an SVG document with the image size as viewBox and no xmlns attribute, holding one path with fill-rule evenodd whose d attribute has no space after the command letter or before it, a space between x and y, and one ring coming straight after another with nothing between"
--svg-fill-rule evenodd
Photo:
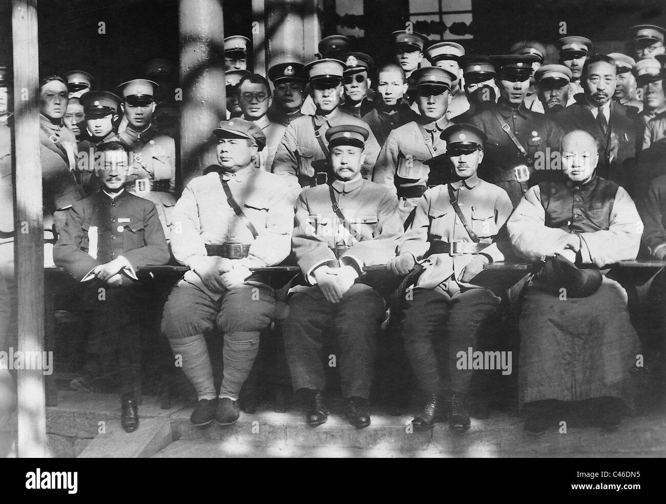
<instances>
[{"instance_id":1,"label":"seated officer in peaked cap and light belted tunic, beside the robed man","mask_svg":"<svg viewBox=\"0 0 666 504\"><path fill-rule=\"evenodd\" d=\"M500 298L474 278L484 264L504 260L496 236L513 207L505 190L476 174L484 157L484 132L453 125L442 132L442 140L456 181L426 190L387 267L400 275L414 271L403 282L408 290L402 338L428 402L412 424L429 428L448 414L452 429L466 430L472 370L458 369L457 355L478 344L500 306Z\"/></svg>"}]
</instances>

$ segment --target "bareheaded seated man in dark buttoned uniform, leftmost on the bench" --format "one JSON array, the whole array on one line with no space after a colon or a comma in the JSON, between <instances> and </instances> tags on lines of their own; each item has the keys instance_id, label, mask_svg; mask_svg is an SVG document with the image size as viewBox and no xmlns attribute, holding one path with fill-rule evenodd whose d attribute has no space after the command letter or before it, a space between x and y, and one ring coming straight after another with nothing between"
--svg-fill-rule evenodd
<instances>
[{"instance_id":1,"label":"bareheaded seated man in dark buttoned uniform, leftmost on the bench","mask_svg":"<svg viewBox=\"0 0 666 504\"><path fill-rule=\"evenodd\" d=\"M139 320L142 300L151 297L137 277L137 266L166 264L165 235L155 204L123 188L129 160L117 141L100 146L97 176L103 188L73 204L53 249L56 266L65 268L87 290L82 299L94 304L93 334L79 389L90 386L93 367L109 366L118 354L121 423L128 432L139 427ZM100 292L101 290L101 292ZM137 369L139 368L139 369Z\"/></svg>"}]
</instances>

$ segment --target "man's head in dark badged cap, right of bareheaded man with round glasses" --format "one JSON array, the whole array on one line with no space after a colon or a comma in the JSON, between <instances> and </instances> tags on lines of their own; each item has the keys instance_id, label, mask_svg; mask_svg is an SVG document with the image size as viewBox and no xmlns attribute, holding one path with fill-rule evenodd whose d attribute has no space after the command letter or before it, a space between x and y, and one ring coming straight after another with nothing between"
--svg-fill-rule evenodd
<instances>
[{"instance_id":1,"label":"man's head in dark badged cap, right of bareheaded man with round glasses","mask_svg":"<svg viewBox=\"0 0 666 504\"><path fill-rule=\"evenodd\" d=\"M268 109L268 119L274 123L288 126L289 123L304 115L303 105L305 79L300 63L279 63L268 69L268 79L273 83L273 105ZM270 166L268 166L270 168Z\"/></svg>"}]
</instances>

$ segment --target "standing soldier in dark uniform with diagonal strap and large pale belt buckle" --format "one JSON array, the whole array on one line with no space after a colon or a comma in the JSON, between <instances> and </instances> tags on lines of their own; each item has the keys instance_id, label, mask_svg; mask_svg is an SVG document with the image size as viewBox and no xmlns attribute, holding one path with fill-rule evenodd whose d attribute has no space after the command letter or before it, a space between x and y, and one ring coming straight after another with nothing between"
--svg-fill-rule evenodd
<instances>
[{"instance_id":1,"label":"standing soldier in dark uniform with diagonal strap and large pale belt buckle","mask_svg":"<svg viewBox=\"0 0 666 504\"><path fill-rule=\"evenodd\" d=\"M479 176L503 188L516 205L529 184L535 183L530 177L535 170L537 152L546 152L547 147L557 148L562 131L551 119L525 107L531 64L538 58L503 55L494 60L499 69L495 80L500 99L496 107L472 116L470 124L488 136Z\"/></svg>"}]
</instances>

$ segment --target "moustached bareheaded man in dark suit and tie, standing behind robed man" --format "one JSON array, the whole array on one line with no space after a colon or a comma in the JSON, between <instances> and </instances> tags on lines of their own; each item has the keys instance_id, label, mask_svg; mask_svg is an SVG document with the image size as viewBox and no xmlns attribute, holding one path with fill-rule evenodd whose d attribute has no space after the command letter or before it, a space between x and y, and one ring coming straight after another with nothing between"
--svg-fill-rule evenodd
<instances>
[{"instance_id":1,"label":"moustached bareheaded man in dark suit and tie, standing behind robed man","mask_svg":"<svg viewBox=\"0 0 666 504\"><path fill-rule=\"evenodd\" d=\"M583 130L599 146L597 174L627 188L635 169L636 113L612 100L617 70L615 60L594 55L585 61L581 84L583 95L557 115L564 130Z\"/></svg>"}]
</instances>

